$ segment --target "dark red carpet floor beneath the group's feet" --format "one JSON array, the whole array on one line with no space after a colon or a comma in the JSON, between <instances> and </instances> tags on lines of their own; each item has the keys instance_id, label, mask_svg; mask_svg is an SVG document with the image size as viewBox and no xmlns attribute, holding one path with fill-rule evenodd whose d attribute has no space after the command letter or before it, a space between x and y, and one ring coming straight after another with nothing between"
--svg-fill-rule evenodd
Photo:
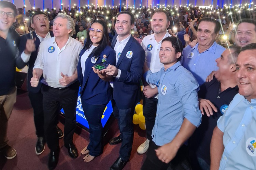
<instances>
[{"instance_id":1,"label":"dark red carpet floor beneath the group's feet","mask_svg":"<svg viewBox=\"0 0 256 170\"><path fill-rule=\"evenodd\" d=\"M58 124L60 129L64 129L62 123ZM117 121L111 125L108 133L105 135L103 143L103 154L96 157L89 163L83 162L83 155L76 159L69 157L67 149L64 147L63 138L59 140L60 156L57 170L107 170L114 163L119 155L120 143L118 145L109 145L108 141L119 135ZM37 156L35 154L35 127L33 120L33 109L30 105L27 93L17 95L17 102L14 106L8 129L9 144L17 151L17 156L11 160L6 159L0 153L0 170L46 170L49 149L46 145L44 152ZM134 141L132 146L130 161L126 164L125 170L138 170L141 168L146 155L137 153L138 146L145 141L145 131L134 125ZM88 145L89 133L81 130L79 127L74 134L73 142L78 152Z\"/></svg>"}]
</instances>

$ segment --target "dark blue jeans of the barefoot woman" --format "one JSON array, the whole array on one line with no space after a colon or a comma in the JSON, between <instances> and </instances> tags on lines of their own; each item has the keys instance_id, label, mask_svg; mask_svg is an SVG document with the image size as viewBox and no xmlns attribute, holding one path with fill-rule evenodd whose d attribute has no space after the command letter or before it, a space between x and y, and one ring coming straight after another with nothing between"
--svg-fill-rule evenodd
<instances>
[{"instance_id":1,"label":"dark blue jeans of the barefoot woman","mask_svg":"<svg viewBox=\"0 0 256 170\"><path fill-rule=\"evenodd\" d=\"M82 99L82 98L81 98ZM84 115L89 124L90 142L87 146L91 156L99 156L102 153L102 124L101 117L104 113L106 104L92 105L82 99Z\"/></svg>"}]
</instances>

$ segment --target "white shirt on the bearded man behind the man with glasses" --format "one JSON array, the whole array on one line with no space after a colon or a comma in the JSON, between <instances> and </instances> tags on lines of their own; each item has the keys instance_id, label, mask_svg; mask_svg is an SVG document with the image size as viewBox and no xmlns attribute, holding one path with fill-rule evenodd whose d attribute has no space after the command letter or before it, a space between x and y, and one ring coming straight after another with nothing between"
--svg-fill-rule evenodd
<instances>
[{"instance_id":1,"label":"white shirt on the bearded man behind the man with glasses","mask_svg":"<svg viewBox=\"0 0 256 170\"><path fill-rule=\"evenodd\" d=\"M155 39L155 34L151 34L151 35L145 36L141 41L141 46L146 53L147 67L153 73L160 71L160 69L163 67L163 64L160 63L159 52L157 51L157 49L160 49L162 40L170 36L171 35L168 32L166 32L165 36L163 36L161 41L157 42ZM149 85L151 88L156 87L156 85L154 84L149 84ZM156 95L155 98L158 99L158 95Z\"/></svg>"}]
</instances>

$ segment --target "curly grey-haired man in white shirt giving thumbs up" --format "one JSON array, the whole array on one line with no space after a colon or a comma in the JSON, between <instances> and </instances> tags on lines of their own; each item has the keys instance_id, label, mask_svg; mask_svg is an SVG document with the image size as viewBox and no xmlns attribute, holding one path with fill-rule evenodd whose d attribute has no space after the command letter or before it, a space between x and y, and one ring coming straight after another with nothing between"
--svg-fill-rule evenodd
<instances>
[{"instance_id":1,"label":"curly grey-haired man in white shirt giving thumbs up","mask_svg":"<svg viewBox=\"0 0 256 170\"><path fill-rule=\"evenodd\" d=\"M64 146L70 157L78 156L73 144L76 128L76 102L79 86L77 83L77 63L82 44L71 38L74 33L74 21L68 15L59 13L53 24L54 37L44 40L38 51L33 68L31 86L37 87L41 82L44 108L44 128L46 142L51 150L48 168L54 169L58 163L59 140L56 129L59 104L65 112Z\"/></svg>"}]
</instances>

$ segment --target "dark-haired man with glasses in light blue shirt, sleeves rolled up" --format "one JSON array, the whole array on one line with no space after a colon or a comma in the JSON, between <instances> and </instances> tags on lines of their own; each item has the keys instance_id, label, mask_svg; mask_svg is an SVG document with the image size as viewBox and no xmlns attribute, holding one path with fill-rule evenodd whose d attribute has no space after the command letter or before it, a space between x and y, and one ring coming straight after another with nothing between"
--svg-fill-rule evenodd
<instances>
[{"instance_id":1,"label":"dark-haired man with glasses in light blue shirt, sleeves rolled up","mask_svg":"<svg viewBox=\"0 0 256 170\"><path fill-rule=\"evenodd\" d=\"M183 144L201 123L199 86L193 75L181 66L182 49L179 39L166 37L158 50L163 68L152 73L144 64L144 78L147 83L157 85L159 99L153 139L142 170L167 169L168 166L180 169L187 158Z\"/></svg>"}]
</instances>

